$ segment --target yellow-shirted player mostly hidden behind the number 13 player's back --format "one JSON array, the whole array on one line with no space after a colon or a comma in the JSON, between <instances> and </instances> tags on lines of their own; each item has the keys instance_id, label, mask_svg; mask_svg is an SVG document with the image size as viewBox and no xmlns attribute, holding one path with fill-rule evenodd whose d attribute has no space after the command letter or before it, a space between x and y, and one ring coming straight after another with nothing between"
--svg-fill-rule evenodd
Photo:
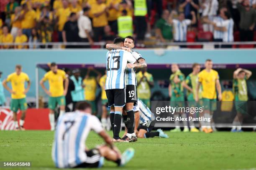
<instances>
[{"instance_id":1,"label":"yellow-shirted player mostly hidden behind the number 13 player's back","mask_svg":"<svg viewBox=\"0 0 256 170\"><path fill-rule=\"evenodd\" d=\"M101 115L101 123L103 128L107 128L108 127L108 122L107 122L107 117L108 117L108 98L106 95L106 91L105 91L105 83L106 83L106 78L107 78L107 71L105 70L105 75L102 75L102 77L100 77L100 87L101 87L101 104L102 104L102 115Z\"/></svg>"}]
</instances>

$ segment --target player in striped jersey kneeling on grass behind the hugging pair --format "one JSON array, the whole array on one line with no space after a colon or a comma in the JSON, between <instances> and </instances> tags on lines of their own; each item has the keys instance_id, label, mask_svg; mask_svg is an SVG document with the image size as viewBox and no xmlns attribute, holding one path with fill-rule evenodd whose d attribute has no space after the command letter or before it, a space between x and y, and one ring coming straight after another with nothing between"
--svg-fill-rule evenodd
<instances>
[{"instance_id":1,"label":"player in striped jersey kneeling on grass behind the hugging pair","mask_svg":"<svg viewBox=\"0 0 256 170\"><path fill-rule=\"evenodd\" d=\"M169 138L161 129L152 132L155 118L151 117L151 115L154 116L154 114L151 113L150 109L141 100L138 100L138 105L133 107L133 111L135 114L139 113L140 115L140 124L136 134L138 138L154 138L155 136Z\"/></svg>"}]
</instances>

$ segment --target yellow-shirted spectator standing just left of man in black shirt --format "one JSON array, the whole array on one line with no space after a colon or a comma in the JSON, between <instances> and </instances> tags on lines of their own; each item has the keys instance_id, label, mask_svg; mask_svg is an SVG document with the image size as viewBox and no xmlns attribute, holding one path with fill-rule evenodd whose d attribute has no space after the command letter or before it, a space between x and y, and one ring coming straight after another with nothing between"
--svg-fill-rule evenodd
<instances>
[{"instance_id":1,"label":"yellow-shirted spectator standing just left of man in black shirt","mask_svg":"<svg viewBox=\"0 0 256 170\"><path fill-rule=\"evenodd\" d=\"M58 35L59 35L59 42L62 42L62 30L64 28L64 24L67 22L69 15L71 13L69 9L69 4L67 0L62 0L62 6L56 11L56 18L57 18L57 25L58 25Z\"/></svg>"}]
</instances>

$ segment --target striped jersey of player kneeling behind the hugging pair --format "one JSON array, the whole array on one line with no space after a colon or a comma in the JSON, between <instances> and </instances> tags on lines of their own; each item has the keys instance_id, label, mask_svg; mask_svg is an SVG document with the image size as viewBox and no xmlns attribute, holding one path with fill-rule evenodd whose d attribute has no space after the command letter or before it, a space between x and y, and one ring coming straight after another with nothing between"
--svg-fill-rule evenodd
<instances>
[{"instance_id":1,"label":"striped jersey of player kneeling behind the hugging pair","mask_svg":"<svg viewBox=\"0 0 256 170\"><path fill-rule=\"evenodd\" d=\"M137 106L133 106L133 112L140 112L140 124L143 124L147 127L151 124L153 120L155 120L154 114L151 110L138 99Z\"/></svg>"}]
</instances>

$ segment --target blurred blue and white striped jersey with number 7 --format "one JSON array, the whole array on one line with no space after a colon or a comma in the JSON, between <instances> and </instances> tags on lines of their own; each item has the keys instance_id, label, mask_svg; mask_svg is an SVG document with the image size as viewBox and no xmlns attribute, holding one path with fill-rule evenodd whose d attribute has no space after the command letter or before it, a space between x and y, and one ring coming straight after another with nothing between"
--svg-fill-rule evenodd
<instances>
[{"instance_id":1,"label":"blurred blue and white striped jersey with number 7","mask_svg":"<svg viewBox=\"0 0 256 170\"><path fill-rule=\"evenodd\" d=\"M85 141L90 130L103 130L94 115L75 111L59 117L51 154L57 168L72 168L87 161Z\"/></svg>"}]
</instances>

